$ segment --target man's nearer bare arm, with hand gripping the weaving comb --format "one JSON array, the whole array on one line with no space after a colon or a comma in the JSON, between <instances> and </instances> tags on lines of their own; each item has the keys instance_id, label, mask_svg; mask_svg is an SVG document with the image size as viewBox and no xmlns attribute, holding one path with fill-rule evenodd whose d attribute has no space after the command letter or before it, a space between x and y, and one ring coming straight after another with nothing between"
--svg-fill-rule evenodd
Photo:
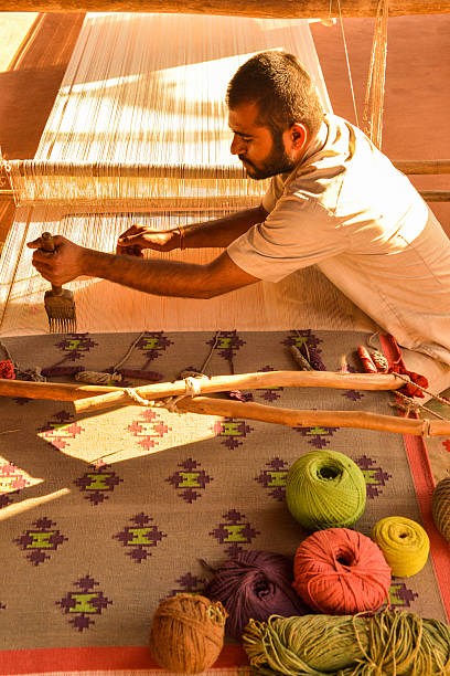
<instances>
[{"instance_id":1,"label":"man's nearer bare arm, with hand gripping the weaving comb","mask_svg":"<svg viewBox=\"0 0 450 676\"><path fill-rule=\"evenodd\" d=\"M61 235L55 235L54 242L54 253L41 251L40 240L28 246L36 249L33 265L38 272L58 286L87 275L157 296L212 298L259 282L233 263L226 252L207 265L195 265L108 254L78 246Z\"/></svg>"}]
</instances>

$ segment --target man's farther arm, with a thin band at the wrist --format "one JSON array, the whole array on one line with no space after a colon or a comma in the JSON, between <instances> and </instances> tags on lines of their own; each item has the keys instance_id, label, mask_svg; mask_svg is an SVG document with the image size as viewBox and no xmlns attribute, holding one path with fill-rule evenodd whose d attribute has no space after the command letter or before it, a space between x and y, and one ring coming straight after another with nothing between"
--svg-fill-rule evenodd
<instances>
[{"instance_id":1,"label":"man's farther arm, with a thin band at the wrist","mask_svg":"<svg viewBox=\"0 0 450 676\"><path fill-rule=\"evenodd\" d=\"M117 242L117 252L137 253L139 250L172 251L173 249L225 247L247 232L256 223L266 220L262 205L245 209L222 219L184 225L180 231L152 230L146 225L132 225ZM182 232L182 234L181 234Z\"/></svg>"}]
</instances>

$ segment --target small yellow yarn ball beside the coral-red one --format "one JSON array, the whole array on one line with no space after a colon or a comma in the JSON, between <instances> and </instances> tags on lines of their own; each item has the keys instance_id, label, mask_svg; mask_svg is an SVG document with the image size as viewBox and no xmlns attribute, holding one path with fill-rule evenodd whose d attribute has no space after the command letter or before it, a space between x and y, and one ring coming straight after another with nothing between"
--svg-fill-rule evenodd
<instances>
[{"instance_id":1,"label":"small yellow yarn ball beside the coral-red one","mask_svg":"<svg viewBox=\"0 0 450 676\"><path fill-rule=\"evenodd\" d=\"M395 578L410 578L424 568L430 551L426 530L406 517L386 517L375 524L372 538L383 551Z\"/></svg>"}]
</instances>

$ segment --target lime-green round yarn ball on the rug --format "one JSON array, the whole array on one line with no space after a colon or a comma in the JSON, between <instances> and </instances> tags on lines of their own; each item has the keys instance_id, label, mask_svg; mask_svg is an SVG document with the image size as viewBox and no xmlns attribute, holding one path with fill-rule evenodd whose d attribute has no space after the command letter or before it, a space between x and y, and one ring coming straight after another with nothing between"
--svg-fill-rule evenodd
<instances>
[{"instance_id":1,"label":"lime-green round yarn ball on the rug","mask_svg":"<svg viewBox=\"0 0 450 676\"><path fill-rule=\"evenodd\" d=\"M293 518L307 530L346 528L365 509L364 475L343 453L311 451L289 469L286 499Z\"/></svg>"}]
</instances>

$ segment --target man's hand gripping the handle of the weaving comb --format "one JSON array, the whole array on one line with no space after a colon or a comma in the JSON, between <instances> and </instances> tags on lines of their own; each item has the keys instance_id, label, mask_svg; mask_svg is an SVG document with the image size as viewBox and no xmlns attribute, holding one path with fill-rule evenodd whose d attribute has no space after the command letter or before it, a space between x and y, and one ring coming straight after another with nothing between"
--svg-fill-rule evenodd
<instances>
[{"instance_id":1,"label":"man's hand gripping the handle of the weaving comb","mask_svg":"<svg viewBox=\"0 0 450 676\"><path fill-rule=\"evenodd\" d=\"M33 253L32 263L44 279L47 279L55 286L62 286L85 274L83 271L85 249L62 235L55 235L53 241L55 243L54 252L42 251L41 237L33 242L28 242L26 246L36 250Z\"/></svg>"}]
</instances>

